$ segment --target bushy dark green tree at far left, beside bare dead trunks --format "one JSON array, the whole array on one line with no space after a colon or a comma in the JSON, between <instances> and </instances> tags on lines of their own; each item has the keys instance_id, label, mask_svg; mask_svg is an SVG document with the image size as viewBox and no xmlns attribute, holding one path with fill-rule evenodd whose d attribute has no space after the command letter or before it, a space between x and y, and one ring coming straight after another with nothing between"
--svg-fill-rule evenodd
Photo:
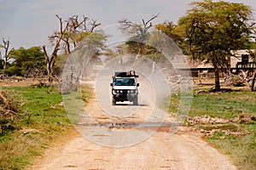
<instances>
[{"instance_id":1,"label":"bushy dark green tree at far left, beside bare dead trunks","mask_svg":"<svg viewBox=\"0 0 256 170\"><path fill-rule=\"evenodd\" d=\"M14 49L9 58L13 60L6 70L9 76L38 77L46 73L44 53L40 47Z\"/></svg>"}]
</instances>

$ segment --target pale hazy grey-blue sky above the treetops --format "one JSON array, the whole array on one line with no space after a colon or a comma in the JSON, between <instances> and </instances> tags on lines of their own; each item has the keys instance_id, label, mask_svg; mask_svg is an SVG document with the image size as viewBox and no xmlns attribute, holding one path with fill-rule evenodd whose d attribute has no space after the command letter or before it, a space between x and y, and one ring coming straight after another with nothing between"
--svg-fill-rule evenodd
<instances>
[{"instance_id":1,"label":"pale hazy grey-blue sky above the treetops","mask_svg":"<svg viewBox=\"0 0 256 170\"><path fill-rule=\"evenodd\" d=\"M226 0L253 8L255 0ZM118 20L142 23L160 13L153 24L177 20L186 14L193 0L0 0L0 38L9 39L12 48L49 45L48 36L59 29L55 14L63 20L83 14L102 23L101 28L118 41ZM121 40L120 40L121 41ZM1 42L2 43L2 40Z\"/></svg>"}]
</instances>

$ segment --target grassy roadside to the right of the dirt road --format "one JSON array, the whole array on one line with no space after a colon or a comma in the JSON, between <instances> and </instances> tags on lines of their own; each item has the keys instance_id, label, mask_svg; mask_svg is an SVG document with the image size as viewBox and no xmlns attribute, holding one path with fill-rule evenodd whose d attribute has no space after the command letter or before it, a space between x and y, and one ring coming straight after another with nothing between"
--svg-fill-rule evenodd
<instances>
[{"instance_id":1,"label":"grassy roadside to the right of the dirt road","mask_svg":"<svg viewBox=\"0 0 256 170\"><path fill-rule=\"evenodd\" d=\"M171 112L177 111L178 100L179 95L172 96ZM224 93L209 93L208 89L196 89L188 116L208 115L230 119L241 114L256 116L255 92L234 90ZM238 131L249 133L234 135L217 131L205 139L213 147L230 156L233 164L239 169L256 169L256 122L239 122L235 123L235 126L238 127Z\"/></svg>"}]
</instances>

